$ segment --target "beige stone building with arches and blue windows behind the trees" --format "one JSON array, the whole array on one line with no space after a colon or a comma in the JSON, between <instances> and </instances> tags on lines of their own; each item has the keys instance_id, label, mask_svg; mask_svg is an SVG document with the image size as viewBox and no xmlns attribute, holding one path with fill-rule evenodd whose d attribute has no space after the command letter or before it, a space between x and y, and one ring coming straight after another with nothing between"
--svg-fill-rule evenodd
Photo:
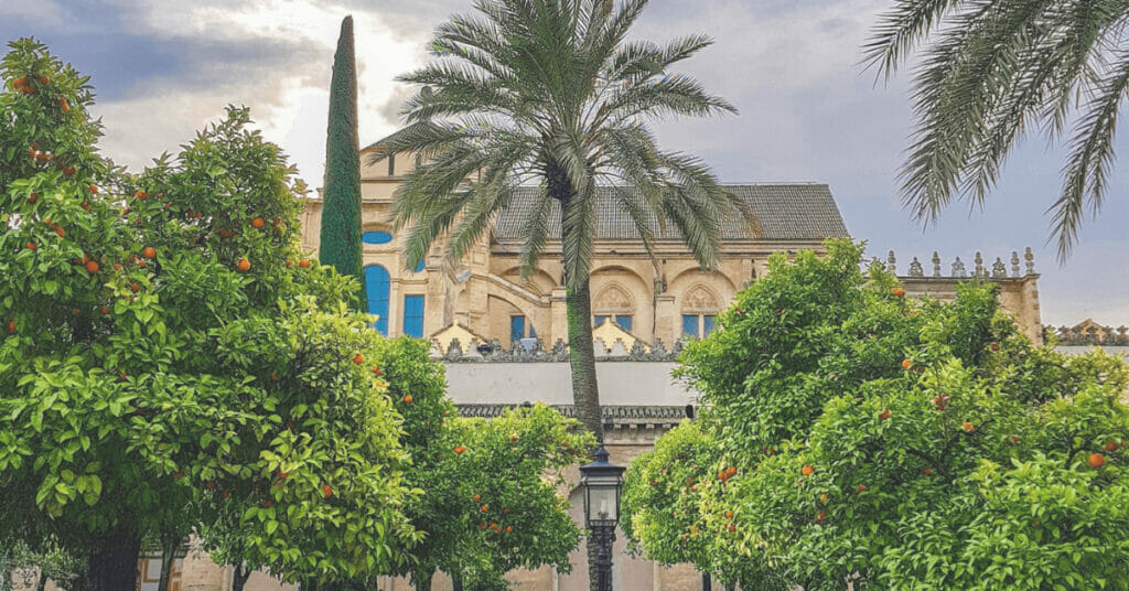
<instances>
[{"instance_id":1,"label":"beige stone building with arches and blue windows behind the trees","mask_svg":"<svg viewBox=\"0 0 1129 591\"><path fill-rule=\"evenodd\" d=\"M370 156L377 158L369 162ZM386 157L376 147L361 153L361 198L365 280L369 311L380 319L376 328L390 337L411 334L432 341L445 360L448 394L463 415L492 417L509 406L544 401L571 414L571 386L564 341L564 289L561 286L559 215L537 271L519 272L519 228L533 200L522 189L497 217L492 232L473 246L465 260L448 266L441 245L422 264L408 268L404 233L392 225L396 186L417 164L411 157ZM822 251L823 242L848 236L846 224L825 184L774 183L727 185L752 211L723 224L721 260L716 269L700 269L673 232L659 236L654 255L647 253L630 219L616 206L614 193L599 194L595 255L592 266L594 338L597 375L604 405L605 446L612 461L625 464L650 450L655 440L685 417L695 394L671 379L675 357L686 338L700 338L714 328L714 318L735 294L763 276L774 252ZM303 247L316 255L322 200L310 197L303 214ZM997 258L984 266L980 254L973 268L957 258L944 266L937 253L922 266L913 259L899 270L893 253L884 264L896 272L914 296L952 298L955 285L973 277L999 286L1003 307L1032 338L1041 340L1039 295L1030 250L1008 262ZM928 268L926 268L928 267ZM574 469L569 480L577 483ZM578 490L571 492L578 522ZM615 544L614 586L627 590L698 590L701 576L692 567L664 567L627 556L622 538ZM230 575L207 558L190 553L180 574L184 591L226 591ZM572 574L551 568L515 572L515 589L581 591L588 589L587 556L571 557ZM248 591L292 589L261 574ZM380 581L380 591L406 591L404 580ZM452 589L437 576L435 591Z\"/></svg>"}]
</instances>

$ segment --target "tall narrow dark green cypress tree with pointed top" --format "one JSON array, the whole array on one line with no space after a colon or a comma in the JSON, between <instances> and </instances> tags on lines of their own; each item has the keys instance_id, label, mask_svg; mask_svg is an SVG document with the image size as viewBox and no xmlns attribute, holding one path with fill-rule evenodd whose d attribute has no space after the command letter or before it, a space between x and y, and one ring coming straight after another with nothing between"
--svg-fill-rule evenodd
<instances>
[{"instance_id":1,"label":"tall narrow dark green cypress tree with pointed top","mask_svg":"<svg viewBox=\"0 0 1129 591\"><path fill-rule=\"evenodd\" d=\"M357 138L357 61L352 17L341 21L330 82L330 123L325 139L325 189L320 257L341 275L360 283L359 310L367 310L360 242L360 144Z\"/></svg>"}]
</instances>

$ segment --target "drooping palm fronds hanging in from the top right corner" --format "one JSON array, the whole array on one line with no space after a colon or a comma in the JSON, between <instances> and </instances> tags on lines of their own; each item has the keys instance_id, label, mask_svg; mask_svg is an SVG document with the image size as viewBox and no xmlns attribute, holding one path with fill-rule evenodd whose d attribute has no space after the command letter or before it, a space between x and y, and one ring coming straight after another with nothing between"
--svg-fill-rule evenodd
<instances>
[{"instance_id":1,"label":"drooping palm fronds hanging in from the top right corner","mask_svg":"<svg viewBox=\"0 0 1129 591\"><path fill-rule=\"evenodd\" d=\"M902 194L929 223L953 194L982 203L1012 148L1038 125L1070 128L1064 185L1049 208L1059 259L1097 214L1129 90L1129 5L1115 0L895 0L866 59L887 78L919 47L917 130Z\"/></svg>"}]
</instances>

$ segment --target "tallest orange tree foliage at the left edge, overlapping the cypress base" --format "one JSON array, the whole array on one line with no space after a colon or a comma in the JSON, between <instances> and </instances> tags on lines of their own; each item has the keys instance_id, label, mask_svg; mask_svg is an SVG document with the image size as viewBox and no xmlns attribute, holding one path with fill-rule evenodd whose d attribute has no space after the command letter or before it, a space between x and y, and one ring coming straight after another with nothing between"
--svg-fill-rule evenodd
<instances>
[{"instance_id":1,"label":"tallest orange tree foliage at the left edge, overlapping the cypress base","mask_svg":"<svg viewBox=\"0 0 1129 591\"><path fill-rule=\"evenodd\" d=\"M126 174L42 45L11 43L0 80L0 531L89 553L96 590L131 589L142 538L217 507L287 579L405 562L379 337L297 250L280 150L230 108Z\"/></svg>"}]
</instances>

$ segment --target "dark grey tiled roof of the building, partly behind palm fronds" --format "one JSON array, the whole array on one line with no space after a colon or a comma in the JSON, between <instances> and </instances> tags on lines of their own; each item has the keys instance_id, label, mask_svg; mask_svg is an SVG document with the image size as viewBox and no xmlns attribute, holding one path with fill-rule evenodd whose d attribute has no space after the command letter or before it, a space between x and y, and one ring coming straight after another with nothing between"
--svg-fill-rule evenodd
<instances>
[{"instance_id":1,"label":"dark grey tiled roof of the building, partly behind palm fronds","mask_svg":"<svg viewBox=\"0 0 1129 591\"><path fill-rule=\"evenodd\" d=\"M743 201L753 215L750 224L737 211L721 220L723 240L822 241L848 236L847 226L831 190L825 184L735 184L726 185L734 198ZM620 203L618 191L601 186L597 194L596 237L604 240L639 240L639 232ZM522 226L537 199L537 188L520 186L509 206L499 215L495 238L519 240ZM549 223L551 238L560 238L560 208L553 202ZM664 240L680 240L679 229L667 224Z\"/></svg>"}]
</instances>

